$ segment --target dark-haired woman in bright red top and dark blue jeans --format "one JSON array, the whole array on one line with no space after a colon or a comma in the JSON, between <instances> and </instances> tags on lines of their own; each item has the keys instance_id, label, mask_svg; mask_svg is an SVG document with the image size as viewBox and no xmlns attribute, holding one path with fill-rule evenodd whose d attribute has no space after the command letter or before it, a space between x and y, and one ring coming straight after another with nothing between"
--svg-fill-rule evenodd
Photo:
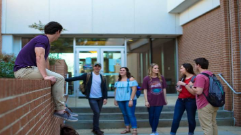
<instances>
[{"instance_id":1,"label":"dark-haired woman in bright red top and dark blue jeans","mask_svg":"<svg viewBox=\"0 0 241 135\"><path fill-rule=\"evenodd\" d=\"M189 132L188 135L193 135L196 128L195 115L197 111L195 95L189 87L189 82L195 81L195 74L193 67L189 63L182 64L180 68L181 79L177 82L176 90L179 92L178 99L176 101L174 116L172 121L171 135L175 135L179 127L182 115L184 111L187 111Z\"/></svg>"}]
</instances>

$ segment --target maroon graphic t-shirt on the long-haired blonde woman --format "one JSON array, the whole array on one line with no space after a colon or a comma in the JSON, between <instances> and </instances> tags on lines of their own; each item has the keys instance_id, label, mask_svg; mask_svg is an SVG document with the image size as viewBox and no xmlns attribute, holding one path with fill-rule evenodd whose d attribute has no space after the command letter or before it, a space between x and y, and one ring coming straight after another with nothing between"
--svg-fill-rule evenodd
<instances>
[{"instance_id":1,"label":"maroon graphic t-shirt on the long-haired blonde woman","mask_svg":"<svg viewBox=\"0 0 241 135\"><path fill-rule=\"evenodd\" d=\"M166 105L163 89L167 87L166 80L162 76L162 82L159 78L152 78L149 76L143 79L142 88L147 89L147 99L150 106Z\"/></svg>"}]
</instances>

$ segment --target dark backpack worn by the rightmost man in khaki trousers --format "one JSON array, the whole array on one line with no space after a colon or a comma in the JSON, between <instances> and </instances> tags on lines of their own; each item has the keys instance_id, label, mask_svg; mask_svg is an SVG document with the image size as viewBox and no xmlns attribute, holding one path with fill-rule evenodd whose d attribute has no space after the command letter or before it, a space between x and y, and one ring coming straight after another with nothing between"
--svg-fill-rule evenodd
<instances>
[{"instance_id":1,"label":"dark backpack worn by the rightmost man in khaki trousers","mask_svg":"<svg viewBox=\"0 0 241 135\"><path fill-rule=\"evenodd\" d=\"M209 75L207 73L201 73L209 78L209 91L208 95L203 95L206 97L208 102L214 107L222 107L225 104L225 92L223 89L223 85L217 79L217 77L212 74Z\"/></svg>"}]
</instances>

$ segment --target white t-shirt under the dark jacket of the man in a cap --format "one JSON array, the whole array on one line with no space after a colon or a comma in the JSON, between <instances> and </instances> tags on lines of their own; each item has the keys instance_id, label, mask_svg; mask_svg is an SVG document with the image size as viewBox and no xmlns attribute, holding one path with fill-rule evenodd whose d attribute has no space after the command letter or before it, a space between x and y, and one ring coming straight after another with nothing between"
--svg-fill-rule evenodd
<instances>
[{"instance_id":1,"label":"white t-shirt under the dark jacket of the man in a cap","mask_svg":"<svg viewBox=\"0 0 241 135\"><path fill-rule=\"evenodd\" d=\"M101 76L96 75L94 72L92 72L92 84L90 89L90 98L101 98L102 92L101 92Z\"/></svg>"}]
</instances>

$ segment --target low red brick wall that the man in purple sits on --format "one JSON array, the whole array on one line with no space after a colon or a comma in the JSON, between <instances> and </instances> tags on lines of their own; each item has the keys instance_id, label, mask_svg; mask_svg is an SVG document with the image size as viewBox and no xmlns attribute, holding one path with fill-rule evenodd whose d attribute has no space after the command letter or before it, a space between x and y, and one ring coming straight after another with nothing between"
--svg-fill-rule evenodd
<instances>
[{"instance_id":1,"label":"low red brick wall that the man in purple sits on","mask_svg":"<svg viewBox=\"0 0 241 135\"><path fill-rule=\"evenodd\" d=\"M0 79L0 135L59 135L49 81Z\"/></svg>"}]
</instances>

